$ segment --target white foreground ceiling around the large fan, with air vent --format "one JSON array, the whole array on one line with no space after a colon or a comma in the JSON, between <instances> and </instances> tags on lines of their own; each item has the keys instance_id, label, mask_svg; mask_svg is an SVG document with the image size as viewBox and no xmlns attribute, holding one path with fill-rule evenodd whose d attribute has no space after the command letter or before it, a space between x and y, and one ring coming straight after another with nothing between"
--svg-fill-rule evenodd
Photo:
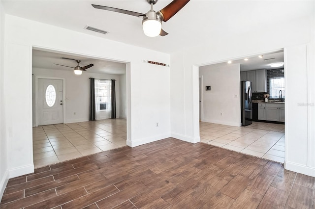
<instances>
[{"instance_id":1,"label":"white foreground ceiling around the large fan, with air vent","mask_svg":"<svg viewBox=\"0 0 315 209\"><path fill-rule=\"evenodd\" d=\"M1 0L7 14L103 37L159 52L171 53L188 47L248 35L313 14L314 2L302 0L190 0L162 28L164 37L147 37L141 19L100 9L91 4L146 13L146 0ZM171 0L159 0L156 11ZM84 29L93 26L109 31L100 34ZM270 31L272 33L272 31ZM259 41L259 40L257 40Z\"/></svg>"}]
</instances>

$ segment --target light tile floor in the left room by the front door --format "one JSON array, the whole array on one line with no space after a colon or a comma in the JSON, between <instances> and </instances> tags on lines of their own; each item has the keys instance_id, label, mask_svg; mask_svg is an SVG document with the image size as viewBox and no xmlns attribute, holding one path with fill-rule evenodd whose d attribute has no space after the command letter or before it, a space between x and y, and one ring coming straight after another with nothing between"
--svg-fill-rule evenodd
<instances>
[{"instance_id":1,"label":"light tile floor in the left room by the front door","mask_svg":"<svg viewBox=\"0 0 315 209\"><path fill-rule=\"evenodd\" d=\"M126 146L126 120L107 119L33 128L35 168Z\"/></svg>"}]
</instances>

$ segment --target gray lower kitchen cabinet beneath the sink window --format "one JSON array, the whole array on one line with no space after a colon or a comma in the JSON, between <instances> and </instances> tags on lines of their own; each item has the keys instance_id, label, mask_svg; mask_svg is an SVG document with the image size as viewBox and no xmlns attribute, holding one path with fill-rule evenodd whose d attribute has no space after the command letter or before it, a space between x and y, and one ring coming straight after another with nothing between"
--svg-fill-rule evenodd
<instances>
[{"instance_id":1,"label":"gray lower kitchen cabinet beneath the sink window","mask_svg":"<svg viewBox=\"0 0 315 209\"><path fill-rule=\"evenodd\" d=\"M266 120L284 122L284 104L266 104Z\"/></svg>"}]
</instances>

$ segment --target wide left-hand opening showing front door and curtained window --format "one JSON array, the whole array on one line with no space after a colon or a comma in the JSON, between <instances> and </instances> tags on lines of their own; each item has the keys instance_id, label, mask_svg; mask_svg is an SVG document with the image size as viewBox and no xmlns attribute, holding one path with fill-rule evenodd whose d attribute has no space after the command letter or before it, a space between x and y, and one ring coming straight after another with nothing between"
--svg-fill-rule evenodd
<instances>
[{"instance_id":1,"label":"wide left-hand opening showing front door and curtained window","mask_svg":"<svg viewBox=\"0 0 315 209\"><path fill-rule=\"evenodd\" d=\"M35 168L126 146L126 62L43 49L33 49L32 54ZM80 66L93 66L76 75L75 60ZM116 119L89 121L89 78L115 80Z\"/></svg>"}]
</instances>

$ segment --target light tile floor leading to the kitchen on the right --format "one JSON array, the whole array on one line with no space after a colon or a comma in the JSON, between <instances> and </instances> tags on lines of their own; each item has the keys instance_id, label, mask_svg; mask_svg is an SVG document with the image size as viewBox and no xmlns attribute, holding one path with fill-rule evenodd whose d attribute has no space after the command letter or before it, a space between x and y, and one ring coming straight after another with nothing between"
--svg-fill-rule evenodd
<instances>
[{"instance_id":1,"label":"light tile floor leading to the kitchen on the right","mask_svg":"<svg viewBox=\"0 0 315 209\"><path fill-rule=\"evenodd\" d=\"M200 122L201 142L284 163L284 125L252 122L246 127Z\"/></svg>"}]
</instances>

